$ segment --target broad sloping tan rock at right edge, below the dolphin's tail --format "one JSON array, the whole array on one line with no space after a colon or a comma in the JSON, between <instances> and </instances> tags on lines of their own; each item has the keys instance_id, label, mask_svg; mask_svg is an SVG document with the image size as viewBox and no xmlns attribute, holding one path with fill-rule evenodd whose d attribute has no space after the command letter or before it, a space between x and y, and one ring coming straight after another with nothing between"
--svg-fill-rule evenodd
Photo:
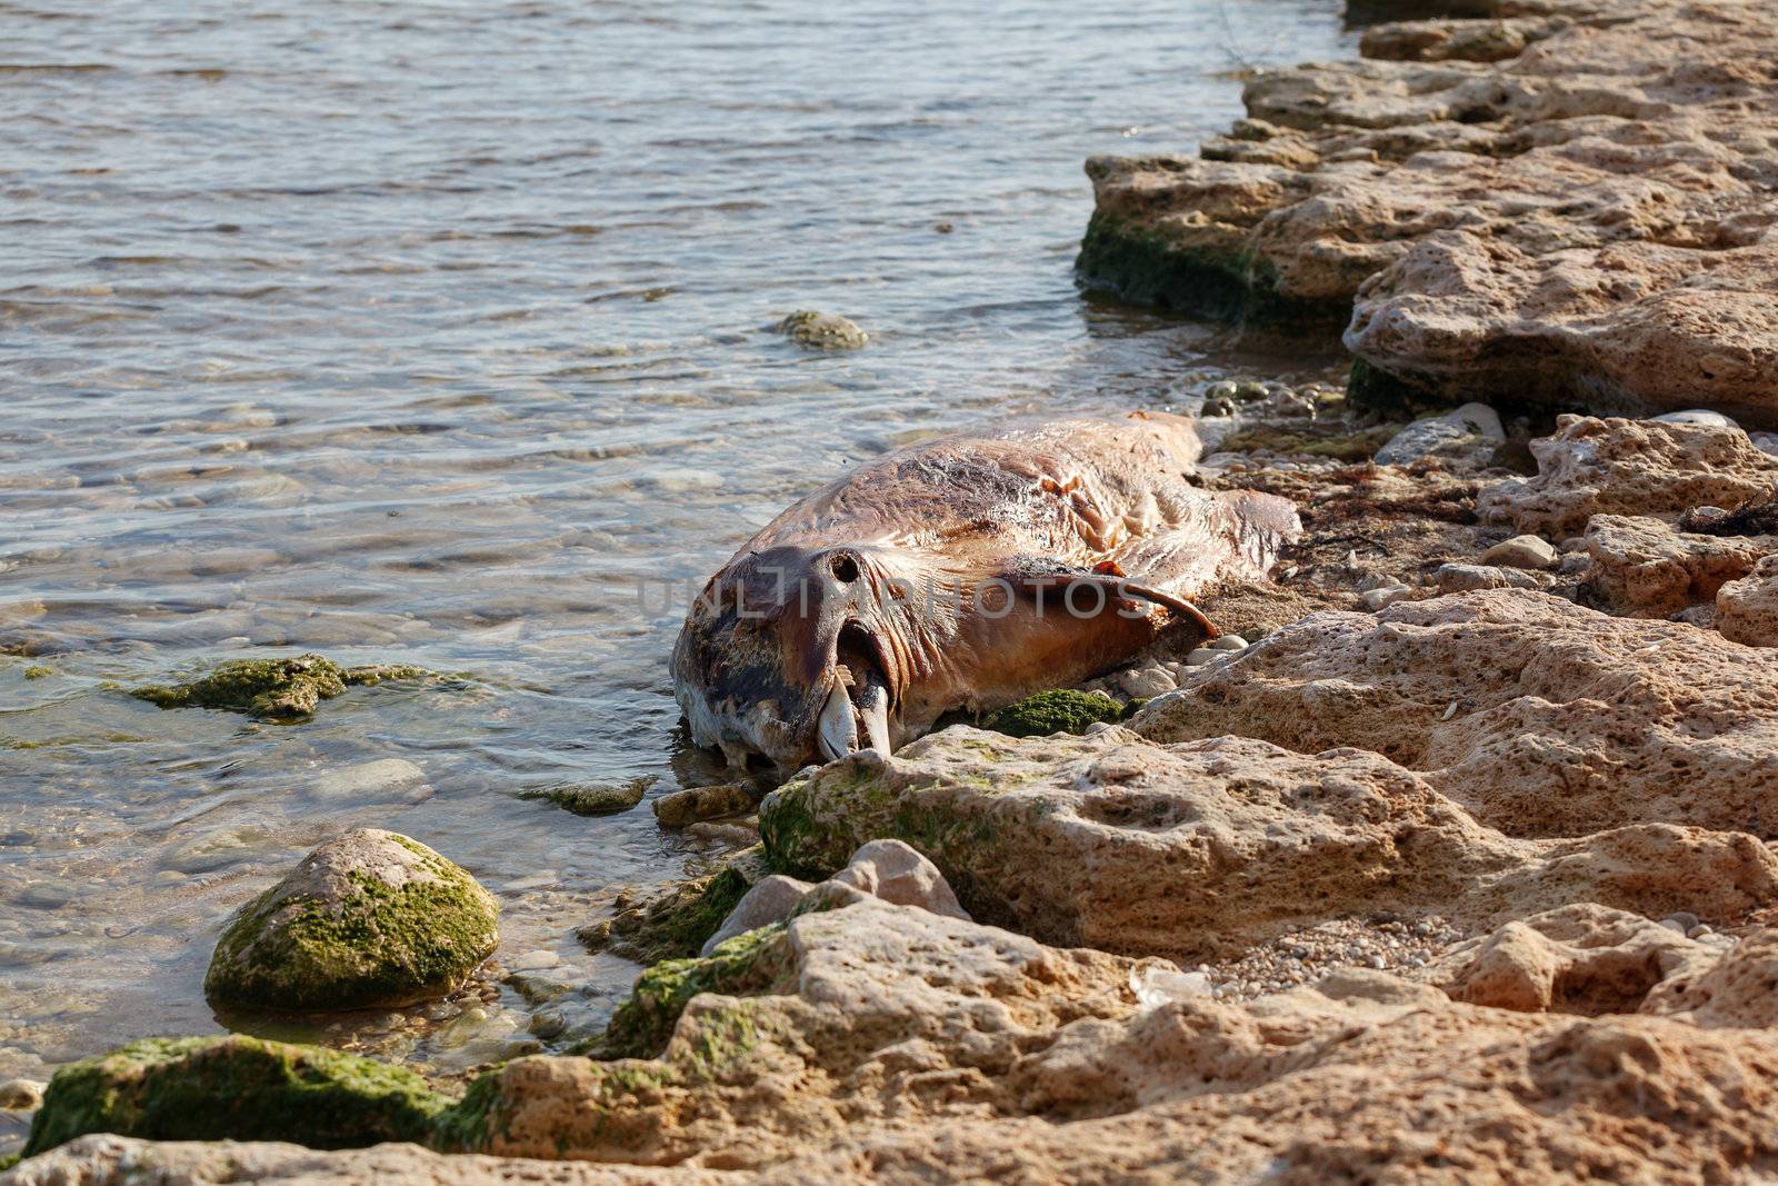
<instances>
[{"instance_id":1,"label":"broad sloping tan rock at right edge, below the dolphin's tail","mask_svg":"<svg viewBox=\"0 0 1778 1186\"><path fill-rule=\"evenodd\" d=\"M1531 590L1314 613L1189 669L1131 724L1157 741L1357 745L1513 836L1629 823L1778 836L1767 653Z\"/></svg>"}]
</instances>

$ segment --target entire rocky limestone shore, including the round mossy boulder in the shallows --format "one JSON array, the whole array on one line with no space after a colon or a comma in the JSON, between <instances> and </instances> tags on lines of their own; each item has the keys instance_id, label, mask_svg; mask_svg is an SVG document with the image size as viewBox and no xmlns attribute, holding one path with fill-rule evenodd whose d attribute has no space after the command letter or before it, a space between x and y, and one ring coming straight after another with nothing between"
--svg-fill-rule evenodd
<instances>
[{"instance_id":1,"label":"entire rocky limestone shore, including the round mossy boulder in the shallows","mask_svg":"<svg viewBox=\"0 0 1778 1186\"><path fill-rule=\"evenodd\" d=\"M132 1044L0 1088L0 1182L1778 1174L1778 20L1467 7L1255 78L1202 158L1090 165L1088 279L1350 318L1346 389L1184 389L1202 485L1303 519L1204 599L1221 638L656 798L720 855L578 932L647 964L599 1031L434 1079ZM212 992L421 1001L496 926L361 830ZM505 973L539 1019L546 971Z\"/></svg>"}]
</instances>

